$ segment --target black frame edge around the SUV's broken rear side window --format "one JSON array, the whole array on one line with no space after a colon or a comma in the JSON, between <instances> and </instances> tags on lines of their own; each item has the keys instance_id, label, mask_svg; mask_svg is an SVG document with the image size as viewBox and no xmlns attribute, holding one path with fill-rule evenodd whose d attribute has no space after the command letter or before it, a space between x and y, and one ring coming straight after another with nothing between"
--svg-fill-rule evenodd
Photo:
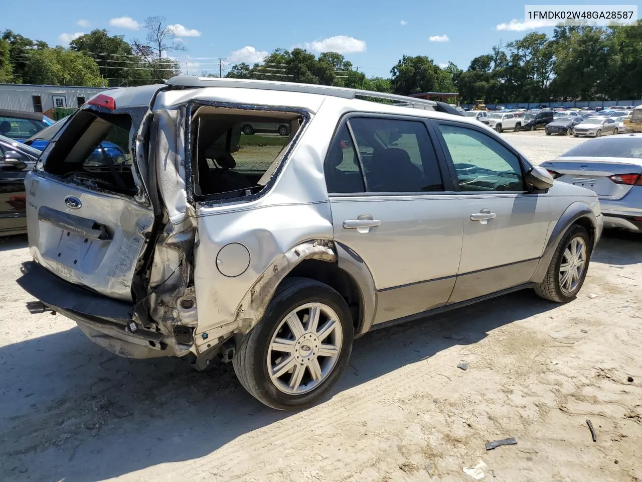
<instances>
[{"instance_id":1,"label":"black frame edge around the SUV's broken rear side window","mask_svg":"<svg viewBox=\"0 0 642 482\"><path fill-rule=\"evenodd\" d=\"M200 107L219 107L222 109L236 109L241 111L261 111L261 112L283 112L288 114L299 114L302 122L297 130L296 134L290 141L289 145L286 145L285 152L282 152L274 159L273 162L277 162L277 159L281 157L278 161L278 165L273 170L272 175L270 176L269 181L263 186L263 188L256 193L247 194L247 189L234 190L224 193L215 193L215 194L205 194L205 195L196 195L194 191L194 182L195 182L195 172L192 168L193 161L196 159L193 157L194 152L198 152L197 141L198 141L198 124L193 122L193 116L195 112ZM218 204L227 204L230 202L250 202L255 201L266 195L270 192L278 179L279 175L283 170L283 166L286 164L288 159L292 154L292 151L299 144L300 138L303 135L306 127L308 127L309 121L311 120L311 112L308 109L303 109L300 107L281 107L273 105L253 105L253 104L243 104L237 102L216 102L210 100L192 100L187 103L187 111L185 116L185 185L187 191L187 202L192 205L198 206L213 206ZM196 170L198 170L198 165L196 165ZM268 169L269 170L269 169Z\"/></svg>"}]
</instances>

